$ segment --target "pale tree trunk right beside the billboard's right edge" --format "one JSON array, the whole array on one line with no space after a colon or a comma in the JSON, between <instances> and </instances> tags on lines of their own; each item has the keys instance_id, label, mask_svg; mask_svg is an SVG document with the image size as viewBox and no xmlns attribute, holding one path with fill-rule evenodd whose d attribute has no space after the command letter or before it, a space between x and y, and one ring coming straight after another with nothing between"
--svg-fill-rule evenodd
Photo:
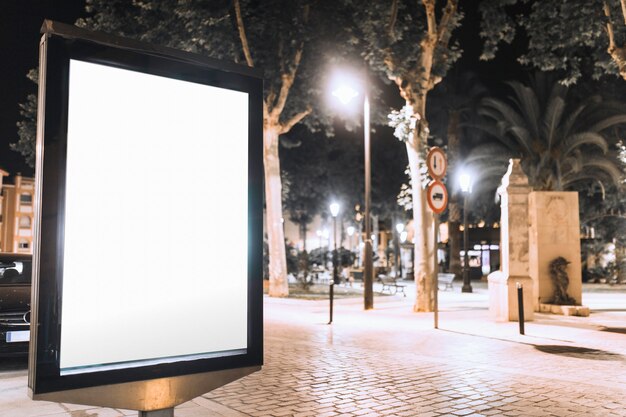
<instances>
[{"instance_id":1,"label":"pale tree trunk right beside the billboard's right edge","mask_svg":"<svg viewBox=\"0 0 626 417\"><path fill-rule=\"evenodd\" d=\"M269 246L270 297L289 295L287 258L283 229L278 130L263 130L263 161L265 165L265 222Z\"/></svg>"}]
</instances>

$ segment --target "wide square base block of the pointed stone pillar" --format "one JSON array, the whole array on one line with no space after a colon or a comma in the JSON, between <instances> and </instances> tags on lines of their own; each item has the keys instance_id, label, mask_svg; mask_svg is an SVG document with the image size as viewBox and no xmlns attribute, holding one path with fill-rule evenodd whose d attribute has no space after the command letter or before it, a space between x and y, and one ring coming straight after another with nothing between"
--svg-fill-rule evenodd
<instances>
[{"instance_id":1,"label":"wide square base block of the pointed stone pillar","mask_svg":"<svg viewBox=\"0 0 626 417\"><path fill-rule=\"evenodd\" d=\"M489 285L489 313L496 321L518 321L517 284L523 288L524 321L534 317L533 281L527 276L507 276L495 271L487 277Z\"/></svg>"}]
</instances>

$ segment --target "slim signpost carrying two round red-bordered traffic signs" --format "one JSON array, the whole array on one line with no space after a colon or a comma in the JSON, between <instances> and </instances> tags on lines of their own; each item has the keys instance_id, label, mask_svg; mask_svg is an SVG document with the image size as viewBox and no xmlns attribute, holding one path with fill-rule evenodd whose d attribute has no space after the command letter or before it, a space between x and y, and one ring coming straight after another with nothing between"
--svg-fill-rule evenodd
<instances>
[{"instance_id":1,"label":"slim signpost carrying two round red-bordered traffic signs","mask_svg":"<svg viewBox=\"0 0 626 417\"><path fill-rule=\"evenodd\" d=\"M431 183L426 189L426 202L433 211L434 220L434 242L435 242L435 265L433 268L433 304L434 304L434 326L435 329L439 328L439 259L437 256L439 238L439 215L448 206L448 190L446 186L441 182L441 179L446 175L448 169L448 160L444 151L433 146L430 148L428 155L426 156L426 165L428 167L428 174L433 178Z\"/></svg>"}]
</instances>

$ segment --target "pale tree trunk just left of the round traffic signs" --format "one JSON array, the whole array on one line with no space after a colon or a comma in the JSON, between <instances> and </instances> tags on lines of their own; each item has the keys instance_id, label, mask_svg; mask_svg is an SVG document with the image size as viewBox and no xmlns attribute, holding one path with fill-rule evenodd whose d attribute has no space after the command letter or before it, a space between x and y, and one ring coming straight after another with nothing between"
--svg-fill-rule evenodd
<instances>
[{"instance_id":1,"label":"pale tree trunk just left of the round traffic signs","mask_svg":"<svg viewBox=\"0 0 626 417\"><path fill-rule=\"evenodd\" d=\"M415 279L415 304L413 311L433 311L432 274L434 267L433 252L433 221L430 210L426 207L426 192L422 189L420 177L420 145L417 134L406 142L406 150L409 157L411 170L411 182L413 183L413 230L415 262L413 273Z\"/></svg>"}]
</instances>

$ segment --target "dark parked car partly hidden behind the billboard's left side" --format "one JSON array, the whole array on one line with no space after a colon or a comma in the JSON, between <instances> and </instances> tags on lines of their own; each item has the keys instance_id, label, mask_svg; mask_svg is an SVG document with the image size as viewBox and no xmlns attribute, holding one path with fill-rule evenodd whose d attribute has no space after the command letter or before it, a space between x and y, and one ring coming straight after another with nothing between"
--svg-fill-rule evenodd
<instances>
[{"instance_id":1,"label":"dark parked car partly hidden behind the billboard's left side","mask_svg":"<svg viewBox=\"0 0 626 417\"><path fill-rule=\"evenodd\" d=\"M28 353L32 255L0 253L0 356Z\"/></svg>"}]
</instances>

